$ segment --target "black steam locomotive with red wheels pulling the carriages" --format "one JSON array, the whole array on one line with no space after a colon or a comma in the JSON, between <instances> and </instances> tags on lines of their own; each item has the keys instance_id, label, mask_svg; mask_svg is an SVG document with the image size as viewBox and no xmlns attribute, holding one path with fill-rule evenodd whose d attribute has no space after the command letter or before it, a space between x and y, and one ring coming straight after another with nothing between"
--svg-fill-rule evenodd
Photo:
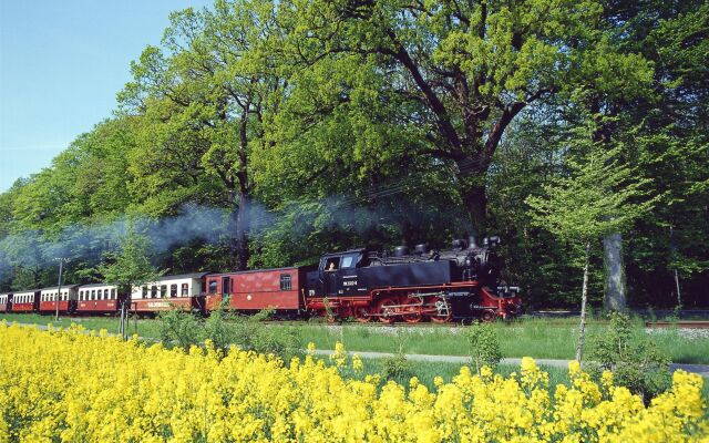
<instances>
[{"instance_id":1,"label":"black steam locomotive with red wheels pulling the carriages","mask_svg":"<svg viewBox=\"0 0 709 443\"><path fill-rule=\"evenodd\" d=\"M458 239L442 251L417 245L413 254L405 246L393 254L328 254L307 274L306 306L362 322L508 318L520 299L517 288L499 286L499 237L490 237L482 246L474 238Z\"/></svg>"}]
</instances>

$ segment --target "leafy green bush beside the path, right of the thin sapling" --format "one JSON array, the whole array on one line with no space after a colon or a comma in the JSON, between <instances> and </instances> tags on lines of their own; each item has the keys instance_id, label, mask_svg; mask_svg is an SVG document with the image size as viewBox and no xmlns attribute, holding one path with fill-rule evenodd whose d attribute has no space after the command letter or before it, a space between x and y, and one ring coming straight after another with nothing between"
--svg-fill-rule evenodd
<instances>
[{"instance_id":1,"label":"leafy green bush beside the path, right of the thin sapling","mask_svg":"<svg viewBox=\"0 0 709 443\"><path fill-rule=\"evenodd\" d=\"M631 326L627 315L610 313L605 333L590 340L589 371L599 377L613 371L617 385L626 387L646 402L671 385L669 359L644 333Z\"/></svg>"}]
</instances>

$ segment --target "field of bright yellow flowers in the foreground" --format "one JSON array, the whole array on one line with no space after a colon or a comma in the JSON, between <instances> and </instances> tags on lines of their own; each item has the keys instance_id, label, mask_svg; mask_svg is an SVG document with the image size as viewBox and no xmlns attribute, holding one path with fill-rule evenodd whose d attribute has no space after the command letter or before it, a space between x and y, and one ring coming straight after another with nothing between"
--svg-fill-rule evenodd
<instances>
[{"instance_id":1,"label":"field of bright yellow flowers in the foreground","mask_svg":"<svg viewBox=\"0 0 709 443\"><path fill-rule=\"evenodd\" d=\"M307 356L286 368L237 349L186 354L1 323L0 442L709 441L702 379L682 371L645 408L609 373L597 385L578 365L554 395L532 359L508 378L463 367L431 392L415 378L408 389L343 379L361 361L338 351L331 364Z\"/></svg>"}]
</instances>

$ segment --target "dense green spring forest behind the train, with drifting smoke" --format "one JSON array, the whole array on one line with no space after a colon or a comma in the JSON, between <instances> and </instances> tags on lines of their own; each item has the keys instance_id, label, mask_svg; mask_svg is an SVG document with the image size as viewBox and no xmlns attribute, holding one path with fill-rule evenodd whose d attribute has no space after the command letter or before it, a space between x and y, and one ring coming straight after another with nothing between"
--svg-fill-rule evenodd
<instances>
[{"instance_id":1,"label":"dense green spring forest behind the train, with drifting smoke","mask_svg":"<svg viewBox=\"0 0 709 443\"><path fill-rule=\"evenodd\" d=\"M586 256L595 306L706 307L708 37L706 1L174 12L114 116L0 195L0 290L101 281L127 227L168 274L499 235L528 308L577 307Z\"/></svg>"}]
</instances>

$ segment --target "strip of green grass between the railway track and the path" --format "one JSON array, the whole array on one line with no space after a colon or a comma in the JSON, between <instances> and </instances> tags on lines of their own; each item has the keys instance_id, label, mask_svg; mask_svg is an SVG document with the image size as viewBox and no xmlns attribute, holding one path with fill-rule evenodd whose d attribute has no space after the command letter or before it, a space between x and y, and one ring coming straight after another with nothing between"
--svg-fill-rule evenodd
<instances>
[{"instance_id":1,"label":"strip of green grass between the railway track and the path","mask_svg":"<svg viewBox=\"0 0 709 443\"><path fill-rule=\"evenodd\" d=\"M53 321L53 317L38 315L0 315L0 319L27 323L69 326L70 319ZM86 329L106 329L117 332L119 320L111 317L82 318ZM645 333L640 320L634 323L639 333ZM352 323L330 326L312 322L270 323L273 328L298 328L304 343L312 341L318 349L333 349L336 341L345 343L350 351L422 353L434 356L466 356L469 348L463 328L427 326L422 328L369 327ZM503 357L534 357L536 359L574 358L577 334L575 319L526 319L512 323L495 323L502 346ZM588 334L603 332L606 323L590 321ZM137 328L137 329L136 329ZM142 337L157 338L155 320L134 320L130 322L130 332ZM676 363L709 363L709 338L688 339L676 330L662 330L651 339L662 352Z\"/></svg>"}]
</instances>

